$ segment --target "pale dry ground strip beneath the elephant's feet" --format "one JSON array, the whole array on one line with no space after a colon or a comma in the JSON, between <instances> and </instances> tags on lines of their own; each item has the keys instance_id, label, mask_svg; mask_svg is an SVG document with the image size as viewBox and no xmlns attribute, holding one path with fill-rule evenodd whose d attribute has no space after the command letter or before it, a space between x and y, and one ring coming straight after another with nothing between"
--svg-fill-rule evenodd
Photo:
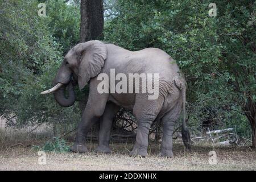
<instances>
[{"instance_id":1,"label":"pale dry ground strip beneath the elephant's feet","mask_svg":"<svg viewBox=\"0 0 256 182\"><path fill-rule=\"evenodd\" d=\"M249 147L213 148L174 145L174 158L159 156L160 144L151 143L146 158L130 157L133 144L113 143L112 154L96 154L95 143L89 143L88 154L46 154L46 165L38 163L38 152L31 147L0 147L0 170L255 170L256 150ZM210 165L209 151L217 152L217 164Z\"/></svg>"}]
</instances>

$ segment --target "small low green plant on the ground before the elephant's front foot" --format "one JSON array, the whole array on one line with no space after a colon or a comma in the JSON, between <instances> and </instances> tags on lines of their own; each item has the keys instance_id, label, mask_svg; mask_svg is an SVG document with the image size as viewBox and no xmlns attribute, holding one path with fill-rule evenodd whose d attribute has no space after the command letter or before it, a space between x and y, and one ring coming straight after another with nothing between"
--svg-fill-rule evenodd
<instances>
[{"instance_id":1,"label":"small low green plant on the ground before the elephant's front foot","mask_svg":"<svg viewBox=\"0 0 256 182\"><path fill-rule=\"evenodd\" d=\"M64 139L53 137L52 141L47 141L42 147L33 146L36 151L65 153L70 151L70 146Z\"/></svg>"}]
</instances>

